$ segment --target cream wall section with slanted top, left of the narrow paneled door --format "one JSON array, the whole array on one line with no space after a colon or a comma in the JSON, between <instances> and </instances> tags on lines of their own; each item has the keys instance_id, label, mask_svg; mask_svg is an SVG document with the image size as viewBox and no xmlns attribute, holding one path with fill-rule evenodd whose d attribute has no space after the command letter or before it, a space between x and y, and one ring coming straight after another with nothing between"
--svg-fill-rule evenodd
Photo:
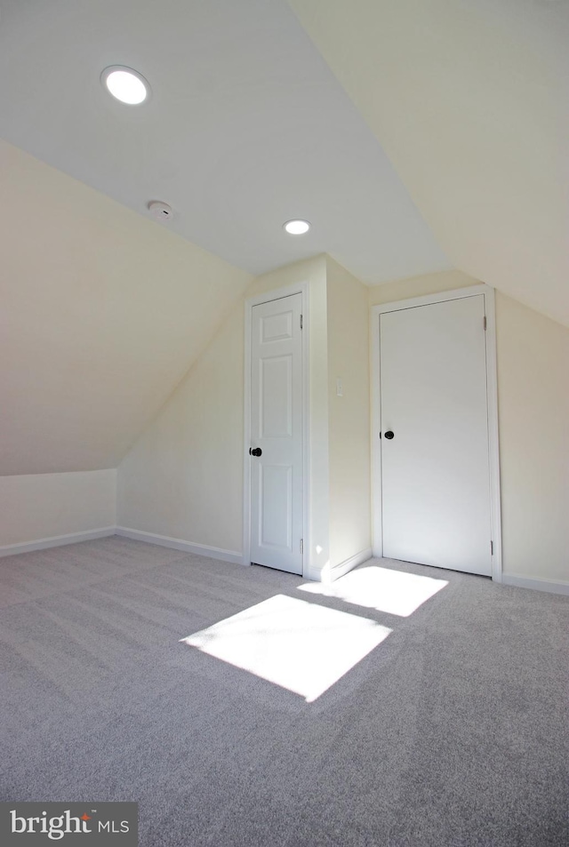
<instances>
[{"instance_id":1,"label":"cream wall section with slanted top, left of the narrow paneled door","mask_svg":"<svg viewBox=\"0 0 569 847\"><path fill-rule=\"evenodd\" d=\"M239 307L121 462L120 526L241 553L243 358Z\"/></svg>"}]
</instances>

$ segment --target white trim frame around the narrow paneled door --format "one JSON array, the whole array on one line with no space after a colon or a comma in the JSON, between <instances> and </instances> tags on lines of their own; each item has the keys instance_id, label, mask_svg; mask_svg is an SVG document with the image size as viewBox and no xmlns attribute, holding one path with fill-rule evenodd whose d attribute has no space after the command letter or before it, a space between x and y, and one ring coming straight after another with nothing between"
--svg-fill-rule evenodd
<instances>
[{"instance_id":1,"label":"white trim frame around the narrow paneled door","mask_svg":"<svg viewBox=\"0 0 569 847\"><path fill-rule=\"evenodd\" d=\"M251 331L252 308L293 294L302 295L302 577L309 572L310 550L310 385L309 283L285 285L248 297L244 302L244 443L243 443L243 563L251 564Z\"/></svg>"}]
</instances>

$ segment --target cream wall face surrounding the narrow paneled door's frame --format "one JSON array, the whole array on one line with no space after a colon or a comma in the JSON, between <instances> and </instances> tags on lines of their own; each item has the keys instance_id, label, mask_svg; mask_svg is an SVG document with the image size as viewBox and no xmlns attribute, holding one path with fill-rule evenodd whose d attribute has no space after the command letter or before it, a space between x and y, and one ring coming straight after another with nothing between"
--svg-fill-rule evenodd
<instances>
[{"instance_id":1,"label":"cream wall face surrounding the narrow paneled door's frame","mask_svg":"<svg viewBox=\"0 0 569 847\"><path fill-rule=\"evenodd\" d=\"M325 257L260 276L245 296L302 282L310 298L311 563L318 569L329 558ZM241 554L243 427L242 300L121 463L118 523Z\"/></svg>"}]
</instances>

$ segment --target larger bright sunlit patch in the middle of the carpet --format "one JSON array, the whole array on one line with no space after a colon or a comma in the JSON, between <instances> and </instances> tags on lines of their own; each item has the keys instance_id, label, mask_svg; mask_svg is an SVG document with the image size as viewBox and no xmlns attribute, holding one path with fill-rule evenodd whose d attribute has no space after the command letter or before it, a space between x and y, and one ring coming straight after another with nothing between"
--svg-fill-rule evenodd
<instances>
[{"instance_id":1,"label":"larger bright sunlit patch in the middle of the carpet","mask_svg":"<svg viewBox=\"0 0 569 847\"><path fill-rule=\"evenodd\" d=\"M374 620L276 595L181 643L300 694L320 697L391 632Z\"/></svg>"}]
</instances>

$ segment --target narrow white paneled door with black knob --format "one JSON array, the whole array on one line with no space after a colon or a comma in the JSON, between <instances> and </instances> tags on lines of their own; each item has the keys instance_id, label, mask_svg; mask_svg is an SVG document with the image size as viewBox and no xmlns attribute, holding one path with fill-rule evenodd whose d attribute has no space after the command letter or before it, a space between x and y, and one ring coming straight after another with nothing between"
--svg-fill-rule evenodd
<instances>
[{"instance_id":1,"label":"narrow white paneled door with black knob","mask_svg":"<svg viewBox=\"0 0 569 847\"><path fill-rule=\"evenodd\" d=\"M302 295L252 308L251 561L302 573Z\"/></svg>"}]
</instances>

